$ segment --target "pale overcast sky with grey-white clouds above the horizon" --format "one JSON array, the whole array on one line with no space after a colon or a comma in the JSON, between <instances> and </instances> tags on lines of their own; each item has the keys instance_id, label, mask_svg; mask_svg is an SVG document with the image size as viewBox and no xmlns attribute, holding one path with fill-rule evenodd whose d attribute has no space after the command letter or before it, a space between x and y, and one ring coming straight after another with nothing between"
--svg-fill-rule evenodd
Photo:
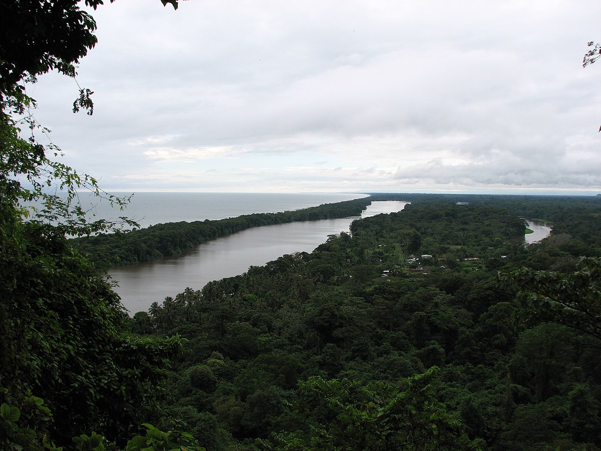
<instances>
[{"instance_id":1,"label":"pale overcast sky with grey-white clouds above the horizon","mask_svg":"<svg viewBox=\"0 0 601 451\"><path fill-rule=\"evenodd\" d=\"M601 192L598 0L106 2L28 87L107 191ZM48 141L46 141L48 142Z\"/></svg>"}]
</instances>

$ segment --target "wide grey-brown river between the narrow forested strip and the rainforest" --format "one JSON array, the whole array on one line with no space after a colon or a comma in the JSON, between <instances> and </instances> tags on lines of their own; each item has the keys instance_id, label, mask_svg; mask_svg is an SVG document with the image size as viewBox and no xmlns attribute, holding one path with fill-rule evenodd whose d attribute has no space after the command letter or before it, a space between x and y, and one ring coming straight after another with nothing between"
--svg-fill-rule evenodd
<instances>
[{"instance_id":1,"label":"wide grey-brown river between the narrow forested strip and the rainforest","mask_svg":"<svg viewBox=\"0 0 601 451\"><path fill-rule=\"evenodd\" d=\"M362 218L379 213L398 212L406 202L372 202ZM148 310L154 301L175 296L186 287L200 290L207 282L246 272L284 254L311 252L328 235L349 232L350 222L358 218L322 219L290 222L243 230L203 243L178 257L155 262L119 266L109 271L118 282L115 291L130 311Z\"/></svg>"}]
</instances>

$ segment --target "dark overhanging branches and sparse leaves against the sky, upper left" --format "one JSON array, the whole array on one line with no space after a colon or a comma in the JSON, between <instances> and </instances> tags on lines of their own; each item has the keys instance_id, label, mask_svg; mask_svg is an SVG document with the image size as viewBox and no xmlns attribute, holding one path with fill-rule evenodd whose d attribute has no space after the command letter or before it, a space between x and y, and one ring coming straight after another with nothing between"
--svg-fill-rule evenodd
<instances>
[{"instance_id":1,"label":"dark overhanging branches and sparse leaves against the sky, upper left","mask_svg":"<svg viewBox=\"0 0 601 451\"><path fill-rule=\"evenodd\" d=\"M111 2L114 0L111 0ZM161 0L177 8L177 0ZM102 0L85 0L96 9ZM96 22L84 11L80 0L11 0L0 2L0 192L2 203L19 208L22 201L43 200L44 209L35 218L59 221L70 235L87 235L115 224L101 219L88 224L79 206L72 206L77 189L89 189L123 206L126 199L103 192L94 177L78 174L47 156L60 155L58 147L43 146L34 137L41 126L31 115L36 102L26 94L25 83L37 81L38 76L57 70L71 78L76 65L94 47ZM79 87L79 85L78 85ZM79 88L73 111L87 110L93 114L90 98L93 92ZM29 138L23 138L23 128ZM26 183L25 183L26 182ZM49 195L44 188L55 186L66 198ZM135 224L126 221L126 224Z\"/></svg>"}]
</instances>

